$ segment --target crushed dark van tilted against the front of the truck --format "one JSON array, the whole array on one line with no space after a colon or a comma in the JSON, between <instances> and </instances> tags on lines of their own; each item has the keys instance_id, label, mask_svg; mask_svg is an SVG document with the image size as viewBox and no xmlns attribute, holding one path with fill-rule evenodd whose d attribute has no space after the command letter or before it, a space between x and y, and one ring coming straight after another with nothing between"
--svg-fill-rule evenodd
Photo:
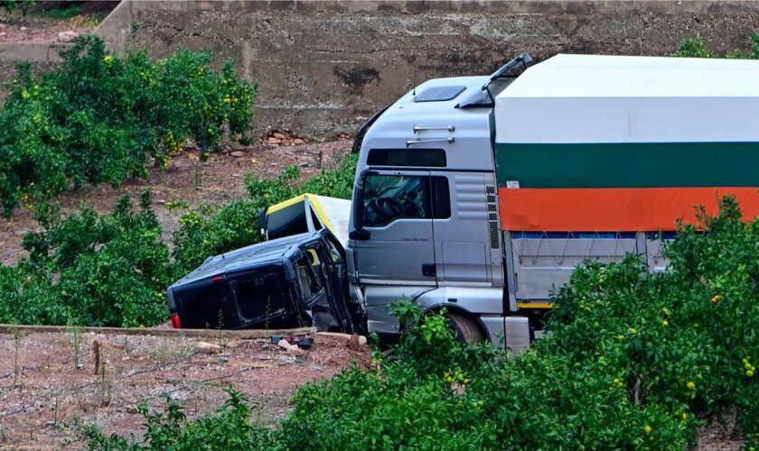
<instances>
[{"instance_id":1,"label":"crushed dark van tilted against the front of the truck","mask_svg":"<svg viewBox=\"0 0 759 451\"><path fill-rule=\"evenodd\" d=\"M365 333L348 295L345 251L327 229L210 257L166 296L173 327L311 327Z\"/></svg>"}]
</instances>

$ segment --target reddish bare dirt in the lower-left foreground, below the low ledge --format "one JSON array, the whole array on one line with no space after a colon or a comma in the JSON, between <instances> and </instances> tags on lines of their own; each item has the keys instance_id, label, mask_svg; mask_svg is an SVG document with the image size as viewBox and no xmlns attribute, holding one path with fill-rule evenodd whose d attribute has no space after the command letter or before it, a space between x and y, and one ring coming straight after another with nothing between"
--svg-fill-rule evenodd
<instances>
[{"instance_id":1,"label":"reddish bare dirt in the lower-left foreground, below the low ledge","mask_svg":"<svg viewBox=\"0 0 759 451\"><path fill-rule=\"evenodd\" d=\"M370 349L342 337L314 336L303 355L267 340L106 336L75 333L0 335L0 448L82 448L72 419L108 433L142 437L137 406L182 401L190 418L212 413L230 385L248 395L254 421L286 415L298 385L366 366ZM93 343L104 364L95 371ZM200 342L220 346L212 354ZM79 343L79 345L77 345ZM77 351L79 349L79 351ZM79 357L77 357L79 355ZM77 364L79 361L79 365Z\"/></svg>"}]
</instances>

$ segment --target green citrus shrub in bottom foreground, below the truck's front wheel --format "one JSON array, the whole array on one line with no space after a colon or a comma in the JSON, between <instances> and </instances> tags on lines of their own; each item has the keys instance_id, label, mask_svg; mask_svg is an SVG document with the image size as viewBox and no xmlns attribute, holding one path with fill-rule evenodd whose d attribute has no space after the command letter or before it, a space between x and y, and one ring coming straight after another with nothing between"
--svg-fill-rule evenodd
<instances>
[{"instance_id":1,"label":"green citrus shrub in bottom foreground, below the truck's front wheel","mask_svg":"<svg viewBox=\"0 0 759 451\"><path fill-rule=\"evenodd\" d=\"M411 327L398 345L398 360L381 360L381 371L352 368L331 381L301 387L294 398L295 411L282 424L284 446L666 449L686 445L689 423L660 404L636 405L612 383L609 373L613 372L607 365L575 363L548 346L506 359L489 346L456 343L446 321L434 314Z\"/></svg>"}]
</instances>

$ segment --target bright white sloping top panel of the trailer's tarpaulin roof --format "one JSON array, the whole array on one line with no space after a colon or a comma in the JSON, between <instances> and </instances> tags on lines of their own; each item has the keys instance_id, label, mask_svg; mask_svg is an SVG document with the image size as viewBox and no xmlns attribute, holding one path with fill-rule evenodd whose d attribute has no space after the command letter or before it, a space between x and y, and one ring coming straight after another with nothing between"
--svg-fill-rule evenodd
<instances>
[{"instance_id":1,"label":"bright white sloping top panel of the trailer's tarpaulin roof","mask_svg":"<svg viewBox=\"0 0 759 451\"><path fill-rule=\"evenodd\" d=\"M498 97L759 97L759 61L559 54Z\"/></svg>"}]
</instances>

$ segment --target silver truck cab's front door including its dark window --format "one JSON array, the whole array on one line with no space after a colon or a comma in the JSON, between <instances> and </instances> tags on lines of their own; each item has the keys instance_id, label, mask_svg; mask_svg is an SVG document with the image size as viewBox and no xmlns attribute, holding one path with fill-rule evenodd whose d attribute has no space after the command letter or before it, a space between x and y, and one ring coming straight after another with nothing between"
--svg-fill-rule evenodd
<instances>
[{"instance_id":1,"label":"silver truck cab's front door including its dark window","mask_svg":"<svg viewBox=\"0 0 759 451\"><path fill-rule=\"evenodd\" d=\"M436 285L428 171L372 170L364 181L363 228L356 240L364 283Z\"/></svg>"}]
</instances>

